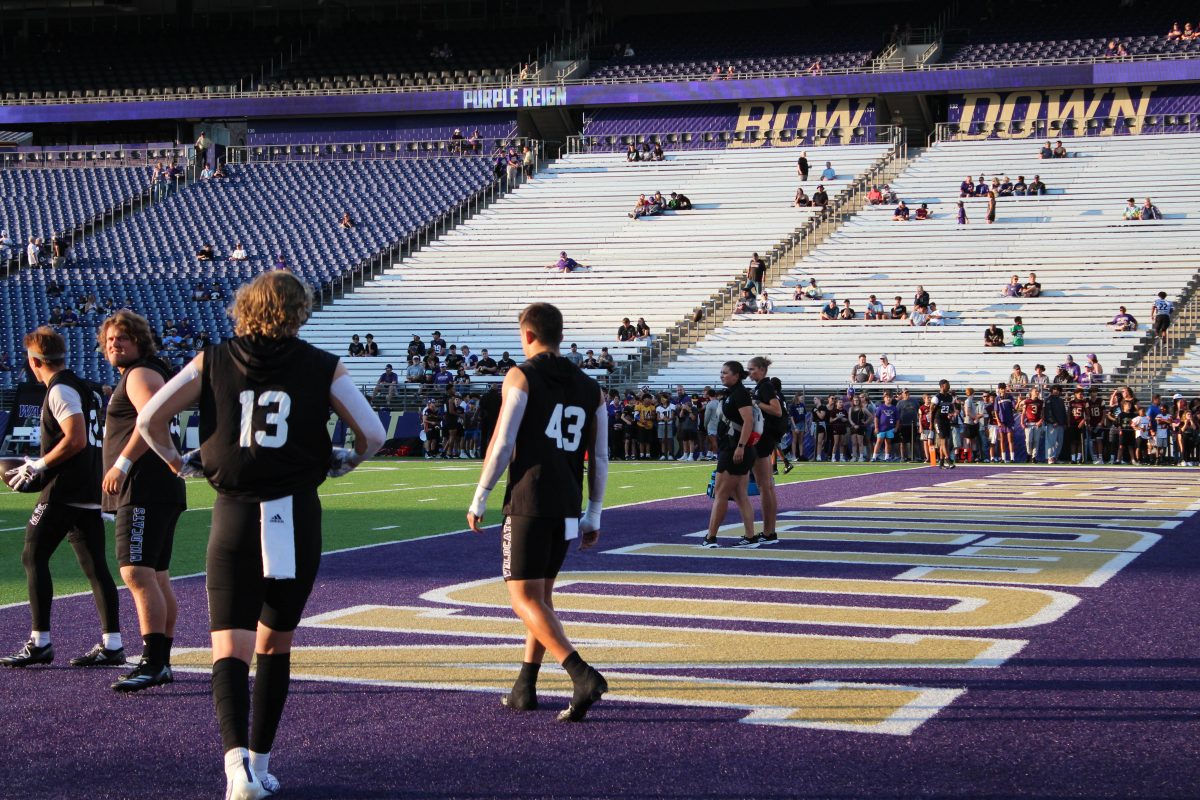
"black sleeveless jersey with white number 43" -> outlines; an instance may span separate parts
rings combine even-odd
[[[529,384],[529,399],[509,465],[504,513],[578,517],[583,512],[583,455],[595,428],[600,384],[550,353],[517,368]]]

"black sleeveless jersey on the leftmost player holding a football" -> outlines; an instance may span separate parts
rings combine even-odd
[[[38,503],[66,503],[76,505],[100,505],[101,431],[100,409],[103,399],[100,392],[70,369],[61,369],[46,384],[46,392],[58,385],[73,389],[79,395],[88,444],[65,462],[46,470],[46,485]],[[65,438],[59,421],[50,413],[47,399],[42,403],[42,456],[54,450]]]

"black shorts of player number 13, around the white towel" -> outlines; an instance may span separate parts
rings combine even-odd
[[[316,489],[292,499],[296,577],[263,577],[263,546],[257,503],[217,495],[209,536],[209,630],[253,631],[262,621],[272,631],[294,631],[320,566],[320,500]]]

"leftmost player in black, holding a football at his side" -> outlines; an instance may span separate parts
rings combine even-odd
[[[29,371],[46,384],[42,403],[40,458],[5,474],[14,492],[41,489],[25,527],[22,563],[29,582],[29,609],[34,628],[29,642],[14,655],[0,658],[5,667],[29,667],[54,661],[50,644],[50,557],[62,540],[71,542],[100,610],[101,643],[71,660],[73,667],[118,667],[125,663],[118,616],[116,583],[108,571],[104,523],[100,518],[100,395],[67,369],[66,343],[49,326],[25,336]]]

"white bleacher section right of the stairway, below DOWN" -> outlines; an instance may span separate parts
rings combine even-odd
[[[878,368],[887,354],[899,383],[958,387],[1006,380],[1014,363],[1033,374],[1043,363],[1052,377],[1070,354],[1088,353],[1117,371],[1153,320],[1159,290],[1177,300],[1200,259],[1200,138],[1141,136],[1072,139],[1073,157],[1040,161],[1040,142],[941,143],[913,161],[892,186],[913,210],[928,203],[934,218],[893,222],[893,206],[868,207],[784,277],[772,291],[773,315],[738,315],[653,375],[650,383],[715,385],[721,362],[754,355],[773,359],[785,387],[838,386],[848,381],[859,353]],[[1043,197],[997,200],[986,224],[986,199],[966,200],[968,224],[955,224],[959,184],[966,175],[1040,175]],[[1160,222],[1124,222],[1129,197],[1146,196],[1165,215]],[[1012,275],[1037,272],[1043,296],[1009,299]],[[822,321],[821,301],[793,301],[797,283],[816,277],[824,299],[850,299],[859,318]],[[896,295],[912,311],[924,285],[947,315],[943,327],[863,319],[875,294],[886,308]],[[1117,333],[1106,323],[1124,305],[1139,332]],[[1013,317],[1022,317],[1024,347],[1012,347]],[[984,348],[984,329],[996,323],[1004,348]]]

